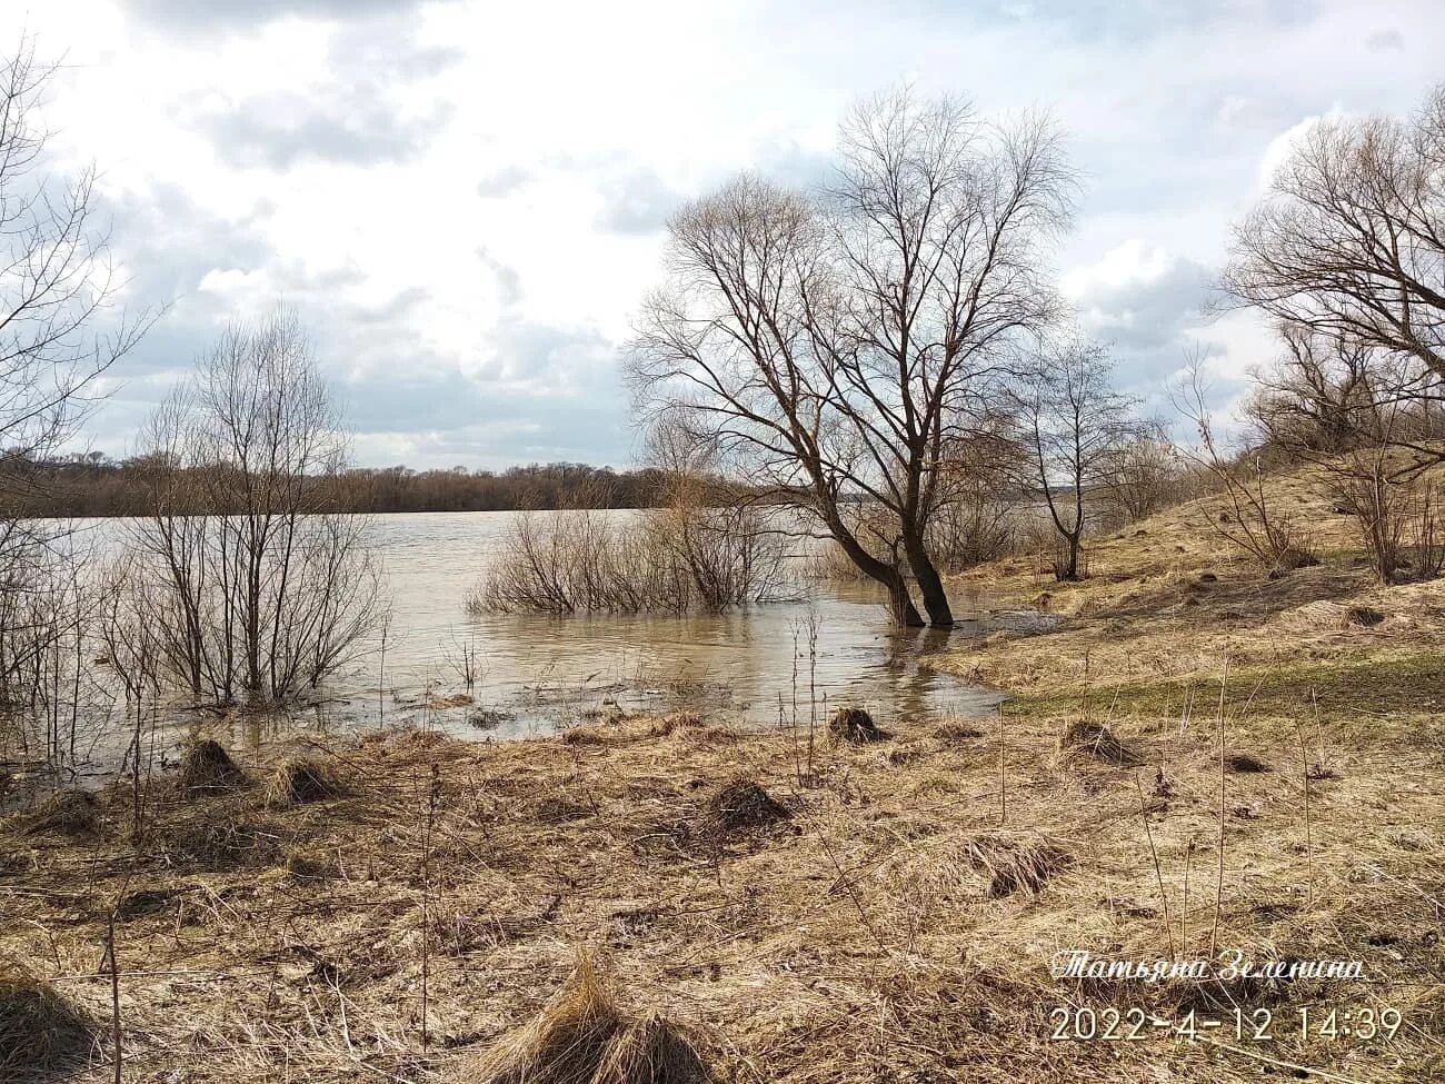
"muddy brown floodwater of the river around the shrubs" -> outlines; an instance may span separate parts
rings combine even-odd
[[[335,733],[383,723],[506,740],[555,733],[611,704],[696,710],[744,726],[806,726],[842,704],[864,707],[886,726],[993,714],[1001,694],[932,669],[929,653],[951,640],[1051,620],[959,594],[951,635],[899,633],[876,585],[816,580],[799,580],[788,598],[724,614],[471,614],[467,600],[513,516],[371,517],[370,542],[392,606],[384,655],[377,637],[328,681],[319,702],[285,717],[172,710],[162,749],[173,749],[198,720],[237,746],[256,746],[286,728]],[[98,551],[123,535],[118,520],[85,529]],[[92,746],[97,760],[107,759],[107,744]]]

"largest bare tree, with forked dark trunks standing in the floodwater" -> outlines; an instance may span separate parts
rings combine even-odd
[[[1071,189],[1042,119],[861,104],[829,189],[743,176],[673,218],[633,350],[644,410],[821,525],[900,623],[922,624],[910,574],[952,624],[926,529],[945,452],[1053,318],[1043,253]]]

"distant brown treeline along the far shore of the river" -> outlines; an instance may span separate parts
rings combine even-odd
[[[0,515],[144,516],[144,483],[153,464],[100,454],[64,460],[7,458],[0,471]],[[663,497],[663,473],[614,471],[582,463],[509,467],[504,471],[416,471],[407,467],[348,470],[327,483],[337,512],[494,512],[512,509],[652,507]]]

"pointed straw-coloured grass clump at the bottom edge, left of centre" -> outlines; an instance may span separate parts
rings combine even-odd
[[[470,1067],[474,1084],[702,1084],[712,1077],[662,1016],[629,1019],[597,961],[579,954],[565,986]]]

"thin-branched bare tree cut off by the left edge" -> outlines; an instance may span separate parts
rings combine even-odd
[[[75,759],[79,655],[94,607],[66,528],[26,519],[40,496],[27,468],[75,434],[98,379],[153,314],[116,311],[120,282],[95,224],[94,171],[48,168],[38,106],[53,71],[29,38],[0,58],[0,710],[12,723],[43,723],[45,757],[62,763]]]

